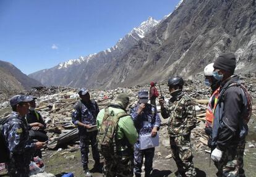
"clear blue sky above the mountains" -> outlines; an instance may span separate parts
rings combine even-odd
[[[29,74],[103,51],[179,0],[0,0],[0,60]]]

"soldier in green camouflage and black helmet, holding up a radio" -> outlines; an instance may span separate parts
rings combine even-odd
[[[169,117],[168,131],[170,136],[173,158],[177,165],[177,176],[196,176],[194,163],[192,162],[192,147],[190,133],[197,122],[195,106],[189,96],[182,91],[184,81],[181,77],[173,77],[168,80],[171,99],[168,105],[164,99],[160,99],[161,115]]]

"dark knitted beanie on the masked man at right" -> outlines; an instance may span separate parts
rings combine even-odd
[[[215,60],[213,67],[233,74],[236,68],[236,56],[233,53],[221,54]]]

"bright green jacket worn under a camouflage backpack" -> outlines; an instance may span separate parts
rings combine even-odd
[[[117,115],[117,113],[124,112],[124,110],[122,109],[109,107],[109,112],[111,112],[112,110],[115,115]],[[105,115],[105,109],[101,109],[100,112],[98,113],[97,120],[96,120],[98,129],[100,129],[101,127],[101,123],[104,115]],[[134,126],[134,121],[132,121],[132,118],[130,117],[130,115],[120,118],[118,121],[117,132],[116,132],[117,141],[127,139],[127,141],[129,142],[129,147],[133,147],[135,142],[137,141],[137,138],[138,138],[138,134]],[[126,149],[127,149],[126,146],[117,147],[117,150],[121,150],[121,151]]]

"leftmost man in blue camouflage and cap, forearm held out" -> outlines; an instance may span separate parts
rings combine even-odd
[[[13,96],[10,100],[13,111],[4,124],[4,137],[10,153],[6,166],[11,177],[28,177],[33,152],[45,145],[45,142],[32,142],[29,139],[30,126],[25,120],[25,115],[28,113],[30,101],[31,98],[25,95]]]

